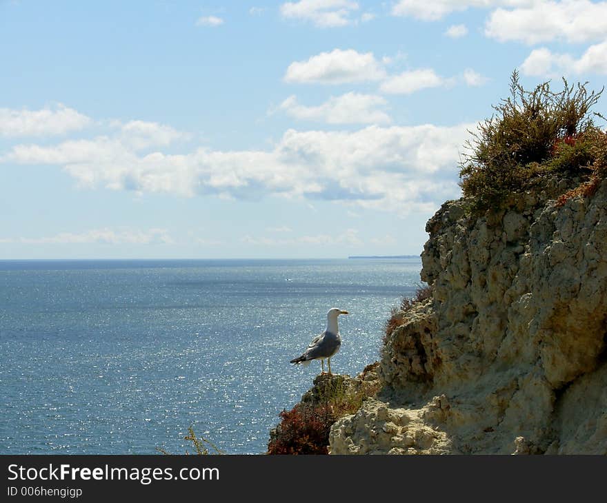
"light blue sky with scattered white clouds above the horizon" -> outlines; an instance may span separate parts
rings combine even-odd
[[[607,1],[0,0],[0,58],[0,258],[419,254],[513,69],[604,85]]]

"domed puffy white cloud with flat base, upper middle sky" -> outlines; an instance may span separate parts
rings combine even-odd
[[[386,70],[372,52],[335,49],[321,52],[308,61],[291,63],[284,80],[289,83],[341,84],[378,81],[385,76]]]

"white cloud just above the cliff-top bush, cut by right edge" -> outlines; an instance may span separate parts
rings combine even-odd
[[[571,54],[559,54],[548,48],[531,51],[521,65],[521,72],[534,76],[560,76],[563,74],[607,74],[607,41],[591,45],[575,59]]]

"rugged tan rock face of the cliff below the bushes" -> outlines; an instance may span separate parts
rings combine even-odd
[[[607,454],[607,181],[426,225],[432,298],[382,350],[383,391],[333,425],[346,453]]]

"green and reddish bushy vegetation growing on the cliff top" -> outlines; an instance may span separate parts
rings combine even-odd
[[[513,72],[510,97],[472,132],[461,161],[460,185],[472,209],[498,208],[508,194],[532,188],[550,174],[586,178],[578,192],[591,192],[606,178],[607,133],[593,121],[604,116],[592,111],[603,90],[588,92],[587,83],[563,82],[561,92],[553,92],[549,81],[528,91]]]

